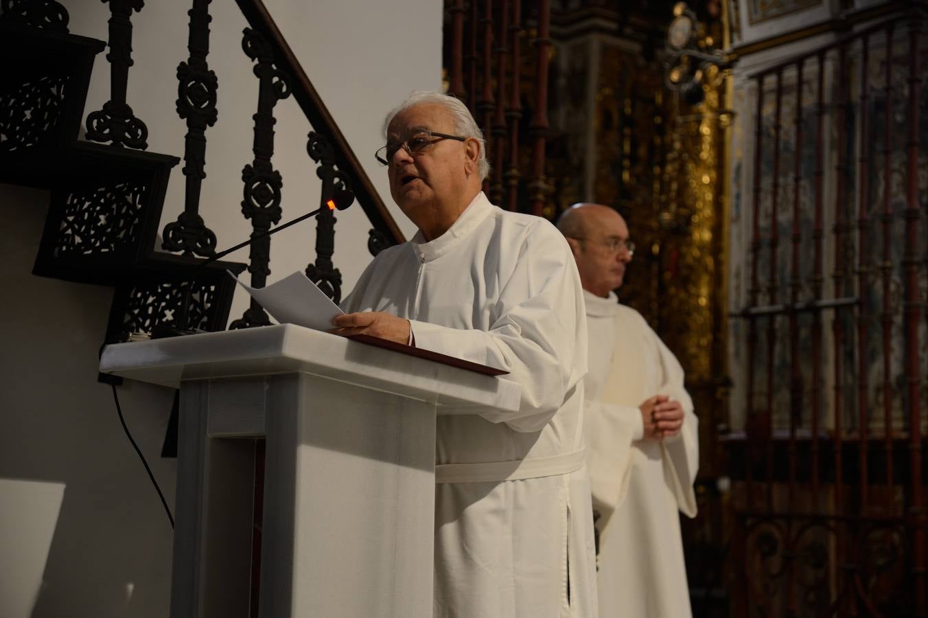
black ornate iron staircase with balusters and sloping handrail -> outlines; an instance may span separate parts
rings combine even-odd
[[[239,271],[242,266],[217,263],[211,268],[196,268],[215,253],[217,244],[200,214],[208,156],[206,134],[216,122],[219,92],[218,79],[208,63],[211,0],[191,0],[187,13],[189,54],[177,67],[176,109],[187,123],[185,203],[176,221],[164,226],[161,249],[180,255],[154,247],[164,187],[177,160],[142,152],[148,148],[148,127],[129,105],[132,19],[144,9],[145,2],[104,2],[110,8],[110,99],[87,116],[88,142],[77,141],[77,125],[72,121],[83,109],[93,56],[102,45],[68,33],[68,13],[58,2],[6,0],[0,6],[5,36],[32,37],[32,52],[26,53],[28,66],[48,73],[29,76],[20,75],[19,70],[15,75],[10,72],[0,89],[0,99],[9,108],[0,119],[2,179],[53,189],[36,273],[116,287],[110,341],[126,331],[150,330],[176,321],[180,315],[194,318],[191,324],[180,326],[224,328],[231,288],[223,270]],[[372,226],[367,243],[372,253],[401,242],[402,233],[264,4],[261,0],[237,0],[237,4],[249,22],[242,48],[258,80],[254,156],[242,171],[241,211],[251,221],[252,237],[271,229],[282,215],[283,179],[272,164],[274,107],[278,100],[293,97],[313,127],[307,136],[307,153],[322,181],[319,204],[335,200],[342,206],[356,199]],[[56,69],[56,58],[44,51],[53,47],[62,56],[68,55],[69,49],[80,48],[82,59],[69,74],[58,75],[61,71]],[[45,56],[49,61],[43,63],[40,60]],[[63,58],[58,62],[71,66]],[[40,118],[41,122],[36,122]],[[49,139],[43,132],[57,133]],[[318,216],[316,256],[306,273],[338,301],[342,277],[332,261],[335,223],[329,209]],[[248,264],[252,286],[260,288],[266,282],[270,250],[270,238],[260,238],[252,245]],[[153,304],[139,305],[146,302]],[[182,309],[184,302],[189,304]],[[225,308],[217,309],[218,305]],[[251,301],[251,307],[231,328],[268,323],[264,310]]]

